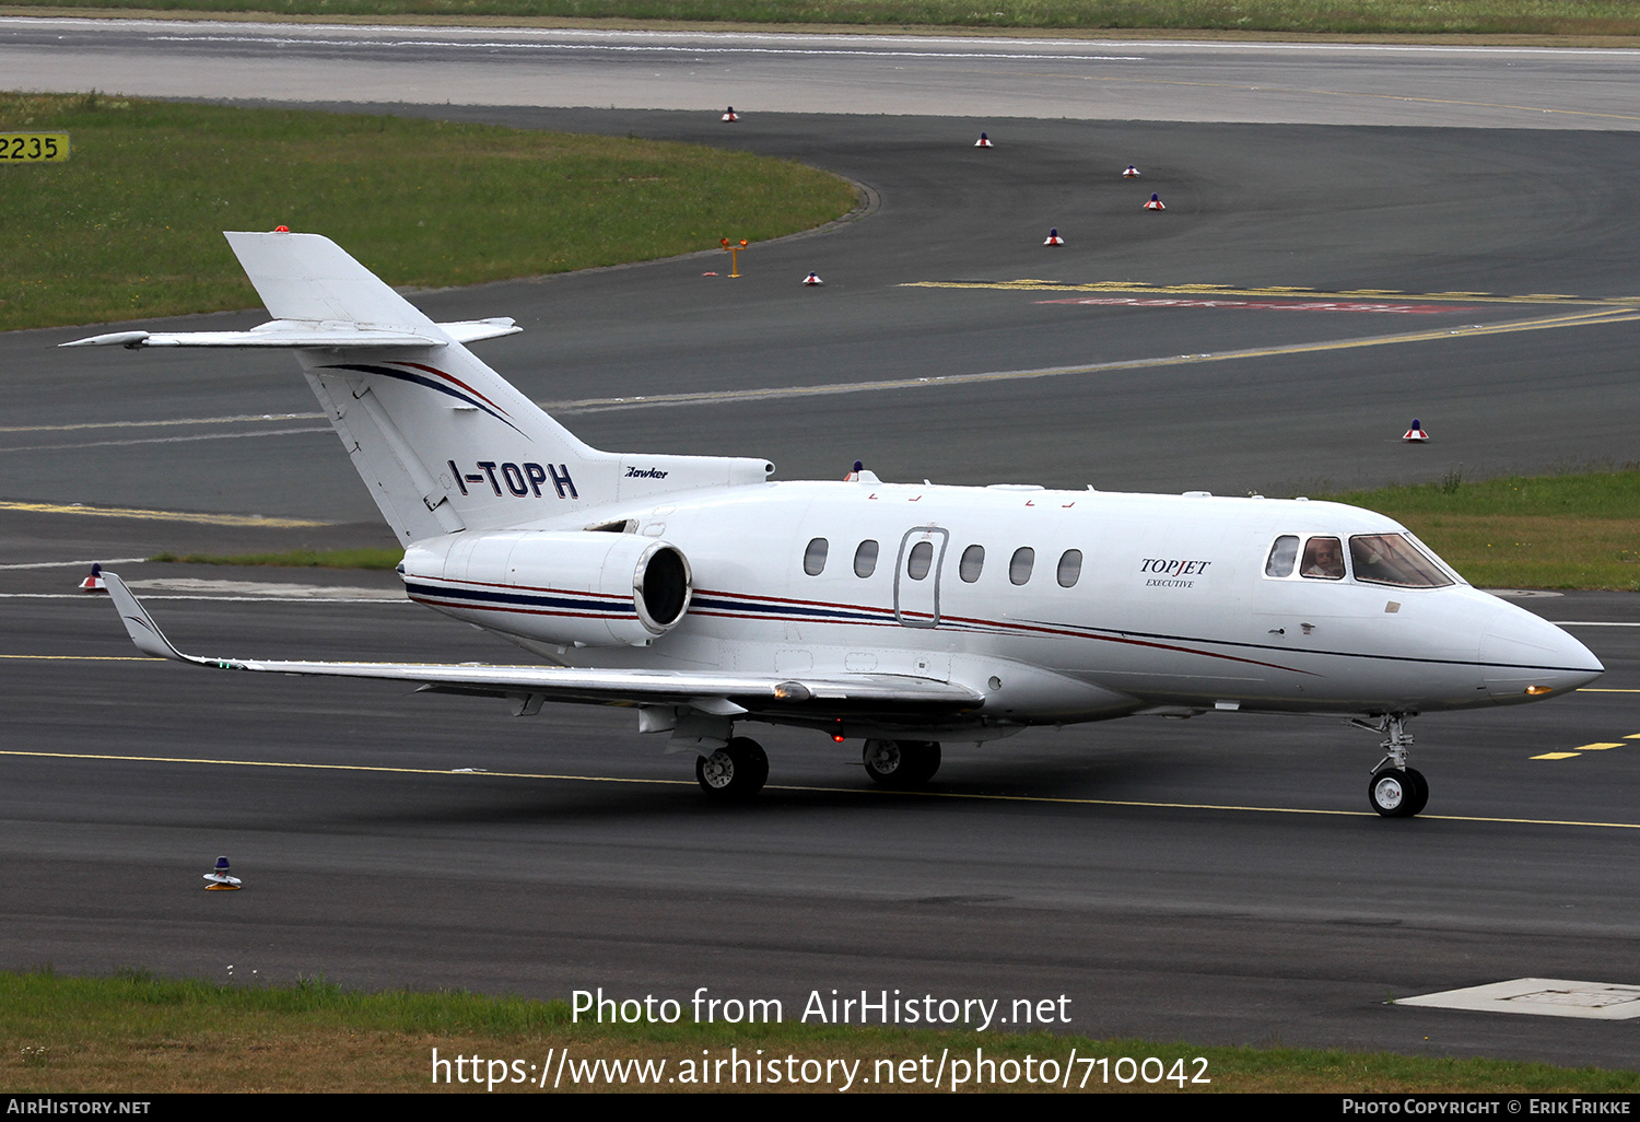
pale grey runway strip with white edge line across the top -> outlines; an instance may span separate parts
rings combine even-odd
[[[1086,120],[1640,128],[1640,52],[7,18],[13,89]]]

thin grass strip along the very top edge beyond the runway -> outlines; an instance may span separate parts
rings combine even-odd
[[[1640,34],[1632,0],[11,0],[52,10],[1310,34]]]

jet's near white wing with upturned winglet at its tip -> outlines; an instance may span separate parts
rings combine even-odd
[[[487,666],[438,663],[298,663],[184,654],[164,636],[125,582],[103,571],[108,597],[138,650],[156,658],[215,669],[379,677],[417,682],[423,691],[510,697],[520,712],[543,700],[602,705],[674,705],[718,717],[779,714],[786,718],[940,717],[973,712],[984,697],[954,682],[905,674],[777,677],[702,671],[584,669],[572,666]]]

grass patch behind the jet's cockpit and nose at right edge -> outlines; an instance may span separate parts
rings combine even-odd
[[[1327,495],[1389,515],[1483,589],[1640,592],[1640,471],[1509,476]]]

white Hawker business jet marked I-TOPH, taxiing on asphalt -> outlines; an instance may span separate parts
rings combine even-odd
[[[771,482],[774,464],[582,445],[333,241],[230,233],[274,315],[251,331],[120,331],[64,346],[272,346],[308,385],[405,546],[410,599],[549,664],[200,658],[125,584],[148,654],[418,682],[530,715],[638,710],[718,799],[758,792],[753,722],[863,740],[868,774],[927,782],[940,741],[1212,710],[1333,714],[1383,737],[1386,817],[1424,809],[1405,722],[1569,692],[1604,668],[1469,587],[1404,527],[1302,499],[1028,486]]]

